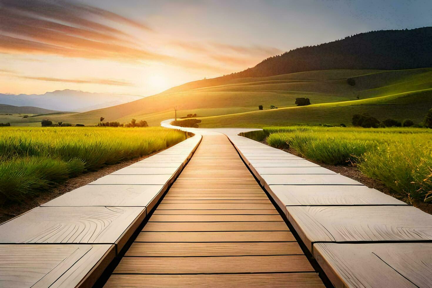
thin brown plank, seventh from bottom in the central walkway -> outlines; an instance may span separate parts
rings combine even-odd
[[[158,210],[153,215],[279,215],[273,210]]]

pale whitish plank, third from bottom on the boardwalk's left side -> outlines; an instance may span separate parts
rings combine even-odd
[[[163,185],[85,185],[41,206],[148,206]]]

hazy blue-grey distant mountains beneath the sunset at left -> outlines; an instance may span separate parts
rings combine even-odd
[[[0,104],[34,106],[54,111],[84,112],[115,106],[141,98],[141,96],[136,95],[90,93],[66,89],[46,92],[42,95],[13,95],[0,93]]]

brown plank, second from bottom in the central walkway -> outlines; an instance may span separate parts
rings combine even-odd
[[[188,274],[314,272],[304,255],[221,257],[124,257],[115,273]]]

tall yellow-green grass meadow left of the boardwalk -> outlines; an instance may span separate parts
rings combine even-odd
[[[185,137],[162,127],[1,127],[0,133],[3,202],[22,201],[68,177],[148,155]]]

